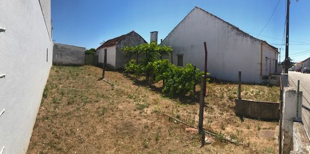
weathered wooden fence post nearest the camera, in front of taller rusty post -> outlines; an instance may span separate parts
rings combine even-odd
[[[204,107],[204,94],[203,94],[203,88],[204,87],[204,76],[201,77],[201,91],[200,91],[200,106],[199,106],[199,123],[198,123],[198,131],[199,134],[202,135],[202,146],[204,146],[204,131],[203,131],[203,107]]]

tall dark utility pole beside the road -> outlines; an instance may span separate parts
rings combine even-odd
[[[285,70],[284,73],[289,71],[289,23],[290,23],[290,0],[286,1],[286,39],[285,39]]]

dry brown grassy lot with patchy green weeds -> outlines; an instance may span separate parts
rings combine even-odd
[[[163,116],[171,115],[197,126],[199,98],[171,99],[160,94],[161,83],[151,86],[141,79],[106,72],[113,86],[93,66],[53,66],[33,129],[28,154],[272,154],[277,122],[239,118],[234,114],[236,84],[207,86],[204,128],[216,132],[212,144],[200,148],[200,137],[186,132],[186,125]],[[278,101],[279,87],[244,85],[245,99]],[[199,91],[199,87],[197,87]],[[222,141],[225,134],[242,145]]]

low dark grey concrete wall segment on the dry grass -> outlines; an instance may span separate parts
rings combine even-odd
[[[236,99],[235,113],[250,118],[279,120],[279,103]]]

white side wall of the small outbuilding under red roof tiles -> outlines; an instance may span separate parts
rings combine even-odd
[[[98,54],[98,63],[103,63],[105,58],[105,49],[107,49],[107,64],[109,67],[115,69],[116,62],[116,46],[109,46],[100,48],[97,51]]]

